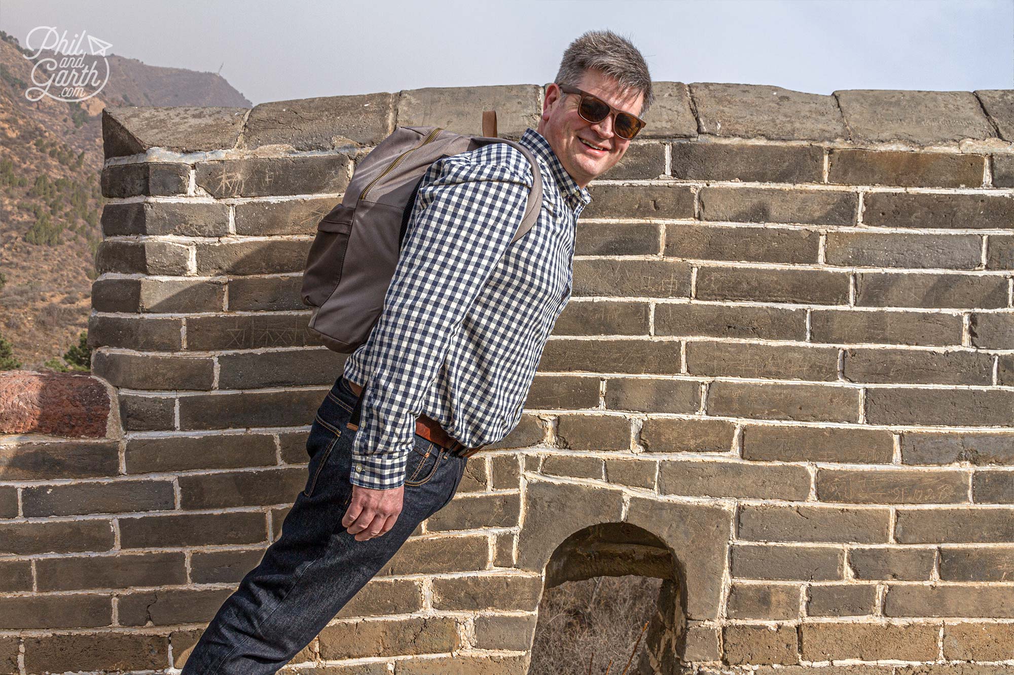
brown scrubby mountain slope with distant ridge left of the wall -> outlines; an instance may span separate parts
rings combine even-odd
[[[80,103],[25,89],[33,63],[0,30],[0,336],[24,368],[59,357],[85,329],[104,200],[101,111],[110,105],[250,107],[216,73],[110,55],[110,80]]]

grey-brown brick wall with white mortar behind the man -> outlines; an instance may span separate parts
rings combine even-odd
[[[570,578],[664,572],[661,672],[1014,665],[1014,91],[655,86],[521,424],[299,672],[523,673],[555,551],[601,533],[618,557]],[[316,220],[394,124],[495,107],[516,138],[541,96],[105,111],[115,424],[0,445],[0,673],[182,664],[342,370],[299,300]]]

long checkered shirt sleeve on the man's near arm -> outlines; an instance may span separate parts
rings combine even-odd
[[[369,376],[352,447],[353,484],[404,484],[426,392],[517,232],[531,186],[530,171],[476,162],[468,154],[427,169],[383,310],[367,340],[363,370]]]

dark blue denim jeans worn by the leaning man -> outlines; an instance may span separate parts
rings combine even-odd
[[[356,434],[346,423],[356,400],[339,377],[306,440],[306,488],[285,517],[281,536],[215,614],[184,675],[275,673],[380,571],[420,522],[454,497],[467,460],[417,434],[397,521],[382,536],[356,541],[342,525],[352,501]]]

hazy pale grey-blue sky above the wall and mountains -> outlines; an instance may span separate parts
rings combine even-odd
[[[0,29],[23,44],[38,25],[150,65],[221,67],[254,103],[545,84],[593,28],[631,39],[654,80],[1014,88],[1014,0],[0,0]]]

